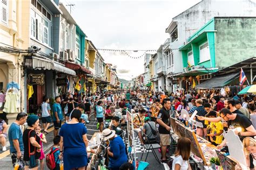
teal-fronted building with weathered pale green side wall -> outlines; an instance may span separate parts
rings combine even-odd
[[[214,17],[179,50],[185,72],[206,74],[252,58],[255,42],[256,17]]]

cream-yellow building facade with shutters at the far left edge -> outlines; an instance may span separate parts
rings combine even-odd
[[[22,16],[23,9],[22,0],[3,0],[0,2],[2,12],[0,12],[0,46],[23,48],[24,37],[22,32],[23,22],[26,17]],[[24,110],[24,79],[22,70],[22,53],[0,52],[0,90],[6,91],[7,84],[16,82],[21,87],[19,90],[20,105],[18,111]],[[1,114],[1,111],[0,111]],[[9,123],[15,121],[17,113],[8,113]]]

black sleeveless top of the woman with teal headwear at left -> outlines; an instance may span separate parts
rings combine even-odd
[[[30,132],[31,131],[31,132]],[[29,133],[30,132],[30,133]],[[35,130],[26,129],[23,133],[23,144],[24,144],[24,161],[29,161],[29,145],[30,145],[30,153],[36,152],[36,159],[40,158],[41,152],[37,152],[37,147],[33,146],[29,139],[31,137],[36,138],[37,143],[40,143],[40,137],[36,134]]]

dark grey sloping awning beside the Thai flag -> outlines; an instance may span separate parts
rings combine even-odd
[[[207,88],[221,88],[226,86],[228,83],[239,77],[239,73],[226,74],[222,76],[213,77],[210,80],[204,81],[196,86],[197,89],[207,89]]]

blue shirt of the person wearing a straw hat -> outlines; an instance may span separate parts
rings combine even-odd
[[[113,157],[109,157],[109,167],[111,169],[119,169],[121,165],[127,162],[124,141],[121,137],[117,136],[110,141],[109,146],[110,152],[113,153]]]

